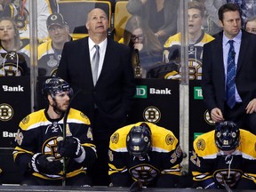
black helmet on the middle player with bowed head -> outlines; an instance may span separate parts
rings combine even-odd
[[[146,156],[151,145],[151,131],[148,124],[133,126],[126,137],[126,147],[132,156]]]

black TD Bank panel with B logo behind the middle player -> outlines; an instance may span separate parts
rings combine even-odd
[[[163,126],[179,136],[179,81],[169,79],[136,79],[132,123],[150,122]]]

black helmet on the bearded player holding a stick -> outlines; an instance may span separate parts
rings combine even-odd
[[[48,94],[50,94],[52,99],[54,100],[57,92],[69,92],[69,97],[72,97],[73,95],[73,90],[70,85],[65,80],[56,76],[48,78],[44,81],[42,92],[46,100]]]

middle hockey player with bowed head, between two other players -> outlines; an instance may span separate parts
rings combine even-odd
[[[145,122],[129,124],[110,138],[108,173],[114,187],[139,181],[146,187],[174,188],[182,158],[179,140],[170,130]]]

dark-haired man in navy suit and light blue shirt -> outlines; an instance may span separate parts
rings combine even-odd
[[[256,36],[241,30],[241,11],[236,4],[219,9],[223,31],[204,44],[202,89],[204,103],[214,122],[234,121],[239,127],[256,133]],[[228,106],[228,50],[233,40],[236,64],[235,106]]]

